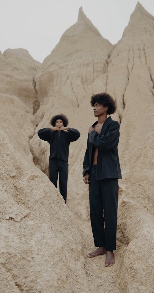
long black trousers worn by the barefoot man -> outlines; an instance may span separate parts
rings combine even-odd
[[[118,179],[96,180],[96,165],[92,165],[89,181],[90,217],[95,246],[115,250]]]

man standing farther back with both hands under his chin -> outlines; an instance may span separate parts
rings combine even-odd
[[[59,191],[66,203],[69,145],[79,138],[80,133],[67,127],[68,119],[63,114],[53,116],[50,123],[52,127],[40,129],[38,135],[50,144],[49,179],[57,188],[59,174]]]

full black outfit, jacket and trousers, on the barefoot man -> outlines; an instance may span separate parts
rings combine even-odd
[[[119,128],[119,123],[108,117],[100,134],[92,130],[88,134],[83,161],[83,176],[89,173],[90,216],[95,246],[103,246],[106,250],[116,249],[117,179],[121,178],[117,149]],[[93,165],[95,148],[98,149],[97,165]]]

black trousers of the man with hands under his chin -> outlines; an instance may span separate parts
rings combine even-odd
[[[59,191],[66,203],[67,198],[67,179],[68,179],[68,162],[52,158],[49,160],[49,179],[57,188],[59,173]]]

